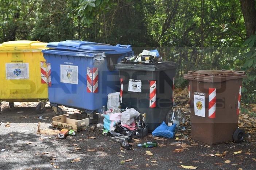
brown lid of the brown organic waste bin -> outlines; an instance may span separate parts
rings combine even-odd
[[[224,82],[230,79],[245,78],[244,71],[232,70],[198,70],[189,71],[183,75],[184,79],[202,81],[202,82]]]

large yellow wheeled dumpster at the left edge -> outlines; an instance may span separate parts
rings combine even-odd
[[[39,41],[7,41],[0,44],[1,102],[37,102],[37,113],[45,111],[48,101],[47,65]],[[1,107],[0,107],[1,111]]]

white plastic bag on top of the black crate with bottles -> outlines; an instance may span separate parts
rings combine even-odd
[[[121,125],[127,124],[130,125],[135,119],[139,116],[139,112],[134,108],[126,108],[124,112],[122,112],[121,116]]]

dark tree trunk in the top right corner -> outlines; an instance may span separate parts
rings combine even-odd
[[[240,0],[244,16],[246,37],[249,38],[256,31],[256,9],[255,0]]]

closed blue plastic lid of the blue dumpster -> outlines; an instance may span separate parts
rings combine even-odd
[[[131,45],[94,43],[89,41],[66,40],[48,43],[46,47],[57,50],[81,51],[81,52],[104,52],[105,54],[124,54],[132,51]]]

